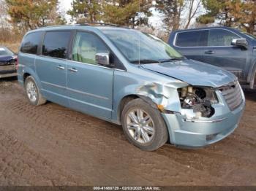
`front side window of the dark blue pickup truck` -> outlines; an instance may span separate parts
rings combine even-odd
[[[240,37],[230,31],[222,29],[211,29],[208,35],[208,47],[212,46],[230,46],[232,39]]]

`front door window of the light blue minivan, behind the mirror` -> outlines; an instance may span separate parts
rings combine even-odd
[[[73,61],[97,64],[95,55],[98,52],[110,52],[98,36],[86,32],[78,32],[72,51]]]

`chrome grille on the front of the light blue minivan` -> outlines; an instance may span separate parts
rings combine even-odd
[[[233,111],[242,104],[243,94],[238,82],[232,82],[219,88],[230,110]]]

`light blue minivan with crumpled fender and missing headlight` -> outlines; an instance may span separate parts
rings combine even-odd
[[[187,60],[156,36],[112,26],[29,31],[18,81],[30,104],[48,100],[122,125],[143,150],[168,139],[185,147],[215,143],[238,127],[245,105],[230,72]]]

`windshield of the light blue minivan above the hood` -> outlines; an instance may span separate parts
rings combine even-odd
[[[105,29],[103,33],[131,63],[157,63],[184,58],[169,44],[151,34],[127,29]]]

